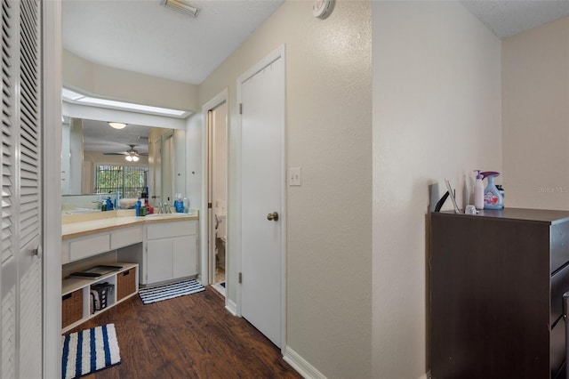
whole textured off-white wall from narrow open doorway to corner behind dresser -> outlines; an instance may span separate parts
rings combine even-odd
[[[501,139],[487,138],[501,131],[500,41],[453,2],[341,0],[327,20],[311,6],[285,2],[196,102],[228,87],[235,132],[236,77],[286,44],[288,165],[303,169],[287,194],[287,343],[331,378],[421,377],[427,186],[501,171]],[[188,119],[194,205],[202,126],[202,115]]]

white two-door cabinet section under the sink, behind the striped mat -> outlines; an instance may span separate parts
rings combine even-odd
[[[145,225],[143,285],[197,274],[197,221],[157,222]]]

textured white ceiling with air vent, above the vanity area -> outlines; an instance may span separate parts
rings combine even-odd
[[[283,0],[189,0],[197,18],[160,0],[63,0],[63,47],[94,63],[198,85]]]

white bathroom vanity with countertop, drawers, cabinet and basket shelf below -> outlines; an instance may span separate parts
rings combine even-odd
[[[98,313],[90,310],[93,285],[106,282],[114,287],[104,309],[107,310],[137,294],[139,285],[197,275],[197,213],[136,217],[132,211],[118,211],[79,216],[72,221],[64,219],[61,241],[64,331]],[[101,264],[120,269],[99,278],[70,278],[72,272]]]

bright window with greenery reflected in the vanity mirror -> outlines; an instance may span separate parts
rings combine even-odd
[[[148,166],[96,165],[95,193],[121,192],[121,198],[140,198],[147,187]]]

